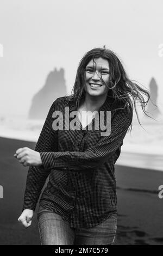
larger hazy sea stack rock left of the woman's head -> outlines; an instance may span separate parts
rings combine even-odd
[[[66,95],[64,72],[62,68],[59,71],[55,68],[54,71],[49,72],[45,85],[33,96],[29,119],[46,119],[52,103],[58,97]]]

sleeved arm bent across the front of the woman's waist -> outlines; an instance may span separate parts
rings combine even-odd
[[[91,170],[100,167],[115,153],[123,142],[127,130],[132,122],[133,112],[119,109],[111,122],[111,133],[103,136],[99,142],[84,152],[40,152],[45,169],[60,170]]]

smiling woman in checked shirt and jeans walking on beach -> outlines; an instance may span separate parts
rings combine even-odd
[[[79,63],[73,94],[59,97],[49,109],[35,150],[16,150],[18,161],[30,166],[18,218],[26,228],[49,176],[37,215],[42,245],[114,243],[114,164],[131,127],[136,100],[145,113],[148,100],[141,93],[149,100],[148,91],[129,80],[114,52],[93,48]],[[92,120],[85,121],[83,113]]]

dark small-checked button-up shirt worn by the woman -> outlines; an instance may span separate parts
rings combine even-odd
[[[107,98],[99,111],[111,111],[109,136],[101,136],[101,129],[89,130],[88,126],[82,130],[79,119],[80,130],[54,130],[53,112],[61,111],[65,124],[66,106],[69,112],[77,111],[74,102],[66,97],[59,97],[49,109],[35,147],[43,164],[29,167],[23,209],[35,210],[49,175],[40,205],[61,215],[73,228],[93,227],[117,211],[114,164],[120,156],[133,112]],[[115,110],[117,107],[121,109]],[[95,125],[95,119],[92,124]]]

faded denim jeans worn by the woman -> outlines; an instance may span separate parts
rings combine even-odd
[[[89,228],[71,228],[68,221],[39,206],[37,212],[41,245],[112,245],[117,229],[117,213]]]

